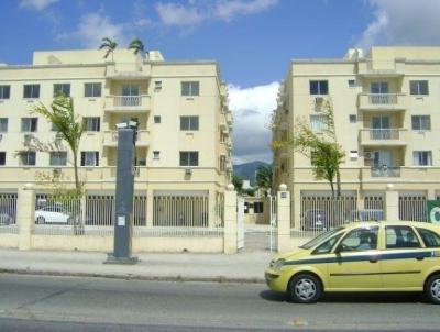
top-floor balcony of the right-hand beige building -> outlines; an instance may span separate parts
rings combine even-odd
[[[407,100],[406,93],[359,93],[358,106],[363,111],[404,111]]]

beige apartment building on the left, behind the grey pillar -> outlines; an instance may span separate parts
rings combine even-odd
[[[50,107],[57,92],[73,98],[84,121],[78,157],[88,197],[114,195],[116,124],[133,120],[139,123],[135,192],[146,201],[144,224],[153,224],[154,209],[156,219],[168,213],[163,219],[169,223],[196,213],[179,203],[188,197],[198,199],[204,225],[222,222],[232,171],[232,115],[216,62],[168,62],[156,51],[143,57],[120,49],[107,59],[101,51],[47,51],[35,52],[32,65],[1,64],[1,192],[25,184],[45,191],[51,186],[41,175],[54,171],[63,174],[66,186],[74,185],[72,152],[59,148],[63,142],[50,122],[30,113],[40,102]],[[29,151],[26,142],[34,137],[53,151]],[[165,211],[165,201],[184,210]]]

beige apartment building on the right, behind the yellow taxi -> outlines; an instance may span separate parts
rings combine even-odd
[[[298,119],[322,131],[326,102],[345,152],[341,184],[353,200],[350,209],[382,209],[393,188],[400,218],[422,219],[414,209],[405,212],[404,202],[440,196],[440,47],[372,47],[365,55],[350,49],[340,59],[293,59],[279,88],[274,141],[292,139]],[[288,145],[274,148],[274,188],[280,184],[292,193],[297,228],[311,211],[304,206],[307,198],[330,196],[310,161]]]

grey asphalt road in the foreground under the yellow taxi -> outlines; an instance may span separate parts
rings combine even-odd
[[[418,295],[338,295],[296,305],[264,285],[0,275],[0,331],[440,329]]]

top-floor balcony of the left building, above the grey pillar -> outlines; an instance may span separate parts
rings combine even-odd
[[[150,96],[108,96],[106,97],[108,112],[147,112],[151,109]]]

